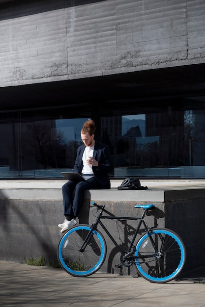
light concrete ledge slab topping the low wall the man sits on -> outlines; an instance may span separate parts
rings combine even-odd
[[[66,180],[0,181],[0,199],[62,200],[61,187]],[[205,195],[205,180],[141,180],[147,190],[117,190],[122,180],[111,180],[109,190],[90,190],[85,199],[100,201],[165,202]],[[193,191],[195,190],[195,192]],[[186,193],[184,192],[186,191]],[[192,195],[192,196],[191,196]]]

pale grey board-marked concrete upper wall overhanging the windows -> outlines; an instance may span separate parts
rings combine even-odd
[[[204,62],[203,0],[0,3],[0,87]]]

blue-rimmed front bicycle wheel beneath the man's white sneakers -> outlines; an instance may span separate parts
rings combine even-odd
[[[106,250],[105,239],[98,230],[91,231],[88,225],[79,225],[61,238],[58,260],[67,273],[86,277],[102,266]]]

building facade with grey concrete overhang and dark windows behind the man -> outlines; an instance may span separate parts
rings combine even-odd
[[[204,1],[1,0],[0,30],[0,178],[59,177],[88,118],[112,176],[205,177]]]

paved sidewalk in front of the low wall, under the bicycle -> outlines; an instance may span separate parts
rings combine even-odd
[[[205,307],[205,268],[168,283],[0,261],[0,307]]]

